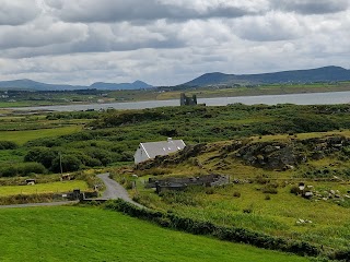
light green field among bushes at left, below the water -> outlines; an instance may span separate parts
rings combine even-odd
[[[13,141],[19,144],[24,144],[30,140],[71,134],[71,133],[81,131],[81,129],[82,129],[81,126],[73,126],[73,127],[55,128],[55,129],[0,131],[0,140]]]

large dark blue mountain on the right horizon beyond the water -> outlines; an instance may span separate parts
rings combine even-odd
[[[234,84],[278,84],[350,81],[350,70],[340,67],[324,67],[308,70],[283,71],[261,74],[207,73],[184,86],[234,85]]]

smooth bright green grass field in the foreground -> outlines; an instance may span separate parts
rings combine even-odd
[[[0,261],[308,261],[93,207],[0,210]]]

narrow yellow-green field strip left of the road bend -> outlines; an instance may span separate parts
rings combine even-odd
[[[14,194],[55,193],[67,192],[73,189],[86,190],[85,181],[73,180],[63,182],[37,183],[34,186],[1,186],[0,196]]]

